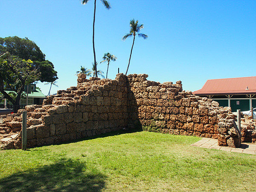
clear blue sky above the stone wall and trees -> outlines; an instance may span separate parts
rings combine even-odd
[[[132,38],[131,19],[144,24],[136,37],[128,74],[146,73],[148,80],[182,81],[183,90],[198,90],[207,79],[256,76],[256,0],[110,0],[110,10],[96,2],[96,60],[104,53],[117,57],[108,78],[118,67],[125,73]],[[158,3],[160,2],[160,3]],[[92,67],[94,1],[0,0],[0,37],[34,41],[54,64],[58,87],[76,86],[80,66]],[[98,69],[107,72],[107,64]],[[49,85],[39,83],[47,95]]]

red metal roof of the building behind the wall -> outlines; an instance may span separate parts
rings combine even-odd
[[[248,87],[248,89],[247,89]],[[256,76],[209,79],[195,95],[256,94]]]

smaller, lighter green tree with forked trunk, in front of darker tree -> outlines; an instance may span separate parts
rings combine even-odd
[[[39,80],[40,73],[32,64],[33,61],[21,60],[9,52],[0,55],[0,92],[14,105],[15,113],[17,113],[25,84],[32,84]],[[5,91],[6,87],[16,93],[15,97]]]

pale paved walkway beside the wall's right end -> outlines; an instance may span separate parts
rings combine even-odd
[[[191,146],[194,147],[202,147],[202,148],[212,148],[212,149],[218,149],[222,151],[231,151],[231,152],[237,152],[237,153],[247,153],[247,154],[256,154],[256,144],[252,143],[241,143],[240,148],[232,148],[232,147],[225,147],[225,146],[219,146],[218,140],[211,139],[211,138],[203,138],[202,140],[191,144]]]

